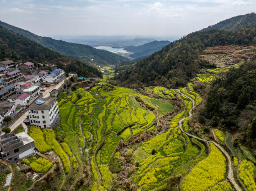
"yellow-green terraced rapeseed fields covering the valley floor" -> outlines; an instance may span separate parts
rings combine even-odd
[[[31,128],[39,150],[60,157],[67,176],[62,185],[73,188],[87,171],[87,187],[74,189],[228,190],[232,185],[240,190],[228,153],[218,143],[188,133],[192,108],[202,100],[192,83],[180,89],[147,87],[145,91],[154,93],[151,97],[102,85],[60,95],[61,122],[55,136],[52,130]],[[221,144],[234,149],[232,135],[230,139],[217,129],[215,134]],[[238,158],[232,159],[239,166]],[[247,185],[251,175],[241,174],[241,179]]]

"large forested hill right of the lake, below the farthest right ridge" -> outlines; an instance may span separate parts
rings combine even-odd
[[[221,45],[253,45],[256,23],[237,30],[205,30],[187,35],[170,43],[158,52],[138,62],[134,67],[123,70],[114,77],[115,82],[126,87],[138,85],[185,86],[202,68],[214,68],[200,57],[207,47]]]

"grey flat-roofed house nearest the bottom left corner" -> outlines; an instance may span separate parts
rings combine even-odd
[[[0,157],[14,163],[38,153],[33,138],[21,132],[0,136]]]

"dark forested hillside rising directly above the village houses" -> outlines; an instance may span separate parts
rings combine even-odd
[[[96,68],[69,56],[56,53],[18,33],[0,26],[0,60],[8,59],[19,62],[53,63],[60,68],[77,72],[83,76],[101,76],[101,73]]]

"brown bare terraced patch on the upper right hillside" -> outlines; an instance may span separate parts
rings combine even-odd
[[[254,55],[256,55],[256,48],[254,47],[230,45],[208,47],[200,57],[207,63],[215,63],[217,68],[223,68],[228,65],[242,63]]]

